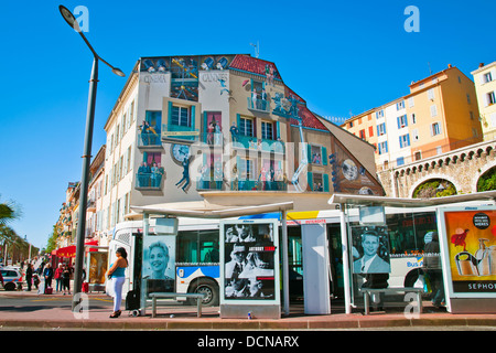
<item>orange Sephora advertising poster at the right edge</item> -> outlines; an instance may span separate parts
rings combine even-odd
[[[496,210],[443,211],[451,292],[465,297],[496,295]]]

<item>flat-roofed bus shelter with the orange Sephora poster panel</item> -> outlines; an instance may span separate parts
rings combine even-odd
[[[342,240],[342,257],[343,257],[343,281],[344,281],[344,299],[345,299],[345,311],[346,313],[351,313],[353,309],[353,290],[354,286],[352,284],[353,281],[353,275],[354,274],[363,274],[367,272],[367,270],[364,270],[364,268],[359,268],[359,265],[366,265],[365,263],[360,263],[358,260],[355,260],[355,254],[356,245],[354,244],[352,239],[352,227],[351,227],[351,221],[349,221],[349,214],[351,211],[358,210],[359,212],[359,227],[360,233],[384,233],[384,238],[387,238],[386,231],[388,225],[386,224],[386,214],[385,214],[385,207],[396,207],[396,208],[422,208],[422,207],[432,207],[438,217],[438,225],[436,225],[436,232],[440,235],[440,243],[441,243],[441,263],[442,263],[442,271],[444,274],[444,290],[446,295],[448,303],[448,310],[451,312],[456,312],[456,310],[453,310],[452,304],[457,303],[459,308],[466,309],[467,306],[466,302],[468,301],[462,301],[459,298],[475,298],[470,297],[466,293],[457,295],[453,291],[453,284],[450,282],[452,279],[452,276],[450,275],[450,267],[456,267],[457,265],[455,261],[451,260],[450,254],[446,250],[449,248],[448,243],[453,243],[453,238],[449,238],[450,235],[446,234],[448,226],[444,224],[444,218],[441,220],[440,215],[444,217],[444,210],[450,210],[452,206],[457,206],[460,210],[463,210],[466,212],[475,212],[473,225],[478,228],[488,228],[490,223],[490,216],[485,216],[481,214],[481,212],[477,212],[479,208],[487,208],[490,211],[494,208],[496,200],[496,191],[488,191],[488,192],[479,192],[479,193],[472,193],[472,194],[464,194],[464,195],[454,195],[454,196],[446,196],[446,197],[433,197],[433,199],[399,199],[399,197],[384,197],[384,196],[373,196],[373,195],[352,195],[352,194],[334,194],[330,200],[328,204],[334,205],[334,207],[337,207],[339,210],[339,223],[341,223],[341,240]],[[457,210],[459,210],[457,208]],[[452,210],[452,208],[451,208]],[[450,211],[451,211],[450,210]],[[414,212],[414,211],[409,211]],[[478,221],[478,220],[483,221]],[[496,224],[496,215],[494,220]],[[477,225],[477,223],[479,223]],[[481,225],[484,223],[483,225]],[[487,226],[486,226],[487,224]],[[456,229],[455,229],[456,231]],[[464,229],[462,229],[464,231]],[[495,227],[495,234],[496,234],[496,227]],[[496,237],[496,235],[495,235]],[[362,239],[364,236],[362,236]],[[379,237],[380,238],[380,237]],[[485,239],[481,238],[481,243],[485,242]],[[453,244],[452,244],[453,245]],[[380,246],[380,244],[379,244]],[[387,246],[386,246],[387,247]],[[481,248],[485,249],[484,245],[481,245]],[[494,247],[496,248],[496,246]],[[489,249],[488,249],[489,250]],[[388,253],[388,252],[385,252]],[[463,252],[462,252],[463,253]],[[466,253],[466,252],[465,252]],[[487,252],[489,253],[489,252]],[[358,255],[358,254],[357,254]],[[468,257],[468,256],[466,256]],[[475,256],[473,256],[475,258]],[[496,258],[496,256],[495,256]],[[370,270],[371,265],[368,264],[369,272],[389,272],[390,268],[387,268],[387,258],[382,258],[385,264],[377,265],[377,268],[381,266],[381,269],[377,270]],[[377,263],[377,261],[376,261]],[[475,267],[475,261],[465,261],[467,265],[466,267]],[[495,261],[496,263],[496,261]],[[454,264],[454,265],[453,265]],[[465,264],[463,264],[465,265]],[[488,265],[490,266],[490,265]],[[488,267],[486,266],[486,267]],[[496,266],[495,266],[496,268]],[[475,272],[475,270],[474,270]],[[496,270],[495,270],[496,274]],[[495,276],[496,277],[496,276]],[[477,288],[496,288],[496,281],[492,281],[490,284],[484,282],[484,284],[477,284]],[[494,290],[493,290],[494,292]],[[481,298],[487,298],[493,299],[494,293],[489,295],[487,291],[482,295]],[[456,301],[457,300],[457,301]],[[460,303],[461,302],[461,303]],[[473,301],[474,302],[474,301]],[[472,303],[473,303],[472,302]],[[466,310],[475,310],[474,306],[472,304],[471,309]]]

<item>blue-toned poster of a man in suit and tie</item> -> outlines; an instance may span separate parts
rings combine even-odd
[[[352,227],[353,272],[389,274],[391,271],[387,226]]]

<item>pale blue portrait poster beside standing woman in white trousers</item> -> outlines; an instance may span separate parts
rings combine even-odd
[[[147,297],[152,292],[174,292],[175,236],[144,237],[142,276]]]

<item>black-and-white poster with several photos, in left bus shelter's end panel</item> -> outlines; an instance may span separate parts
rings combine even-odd
[[[277,221],[231,221],[220,224],[220,300],[279,300]]]

